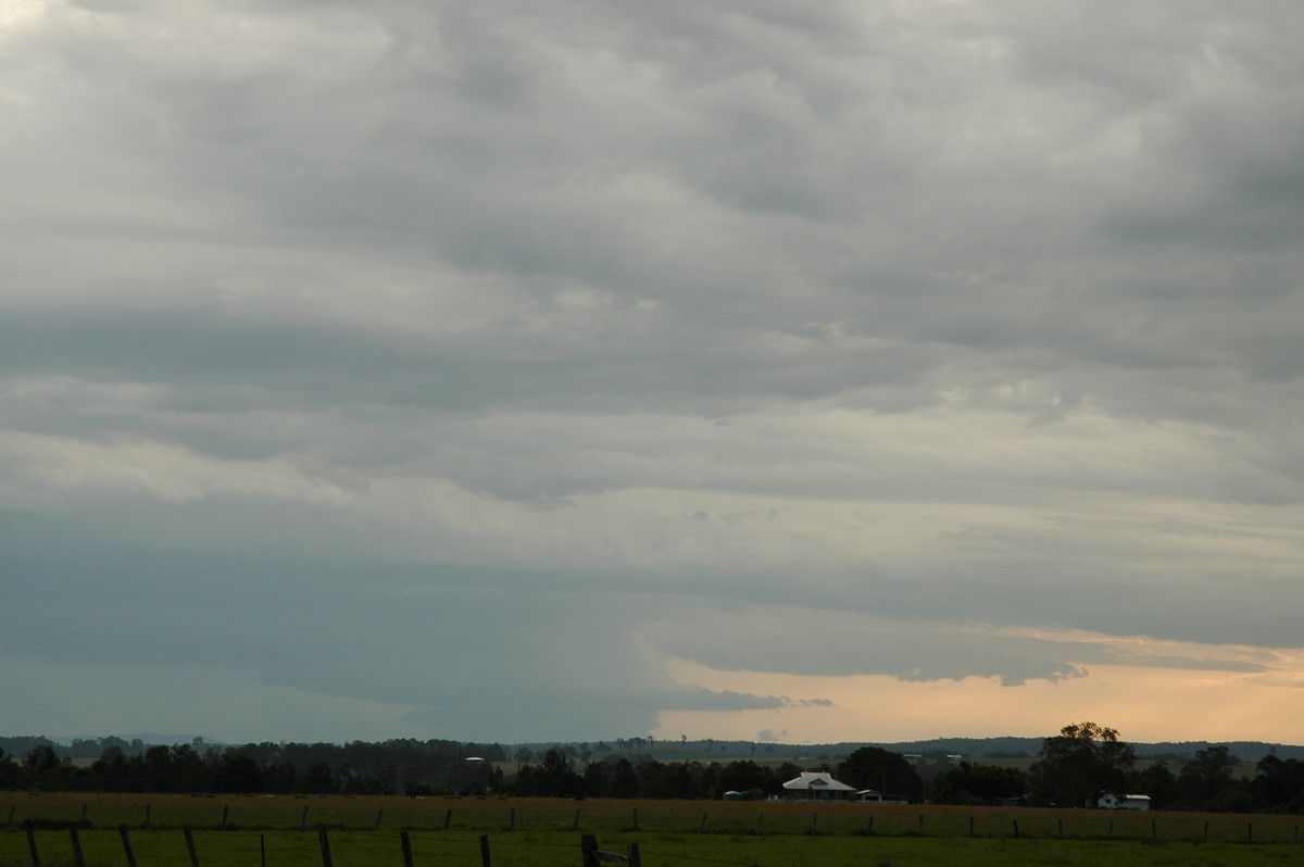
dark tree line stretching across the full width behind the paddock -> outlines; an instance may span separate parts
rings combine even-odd
[[[13,743],[9,739],[8,743]],[[659,761],[609,748],[558,744],[545,751],[497,743],[395,739],[379,743],[249,743],[239,747],[150,746],[104,739],[89,764],[40,741],[17,759],[0,739],[0,789],[44,791],[230,794],[518,794],[587,798],[746,798],[784,794],[803,767],[792,761]],[[80,744],[81,755],[91,742]],[[605,744],[601,744],[605,747]],[[642,744],[630,744],[642,746]],[[600,757],[593,757],[595,754]],[[94,754],[90,754],[94,755]],[[1226,746],[1172,761],[1138,761],[1118,731],[1093,722],[1064,726],[1042,742],[1028,771],[991,761],[925,759],[861,747],[818,765],[855,789],[911,802],[1086,807],[1102,793],[1149,795],[1158,810],[1304,812],[1304,761],[1264,756],[1256,774]],[[515,765],[512,768],[512,764]],[[1176,767],[1176,772],[1170,765]]]

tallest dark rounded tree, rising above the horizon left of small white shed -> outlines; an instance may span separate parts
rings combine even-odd
[[[1028,769],[1033,794],[1061,807],[1095,806],[1103,791],[1123,791],[1136,764],[1136,750],[1114,729],[1094,722],[1067,725],[1042,741]]]

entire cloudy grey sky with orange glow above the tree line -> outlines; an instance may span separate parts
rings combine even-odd
[[[1295,0],[0,0],[0,733],[1299,743]]]

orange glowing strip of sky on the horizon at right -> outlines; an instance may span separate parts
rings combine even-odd
[[[931,738],[1047,737],[1091,720],[1138,743],[1183,741],[1299,741],[1304,717],[1304,660],[1277,651],[1267,673],[1097,665],[1086,677],[1001,686],[995,678],[908,682],[888,675],[806,677],[719,671],[668,660],[681,683],[782,696],[785,707],[661,714],[657,737],[785,743]],[[828,700],[814,704],[812,700]]]

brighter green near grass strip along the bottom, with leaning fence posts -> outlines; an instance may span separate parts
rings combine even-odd
[[[81,830],[90,867],[125,867],[117,832]],[[468,830],[411,832],[415,867],[477,867],[480,833]],[[488,832],[497,867],[562,867],[580,863],[579,834],[574,832]],[[179,830],[132,832],[140,867],[179,867],[189,863]],[[201,867],[321,867],[316,832],[205,830],[194,832]],[[42,867],[72,867],[69,833],[37,832]],[[614,832],[599,834],[599,845],[625,853],[636,842],[647,867],[700,867],[738,864],[756,867],[908,867],[965,864],[968,867],[1161,867],[1171,864],[1252,867],[1299,863],[1294,844],[1247,845],[1232,842],[1029,840],[969,837],[855,837],[855,836],[734,836]],[[338,867],[403,867],[395,830],[330,832],[333,862]],[[265,859],[265,860],[263,860]],[[0,833],[0,866],[30,867],[26,836]]]

